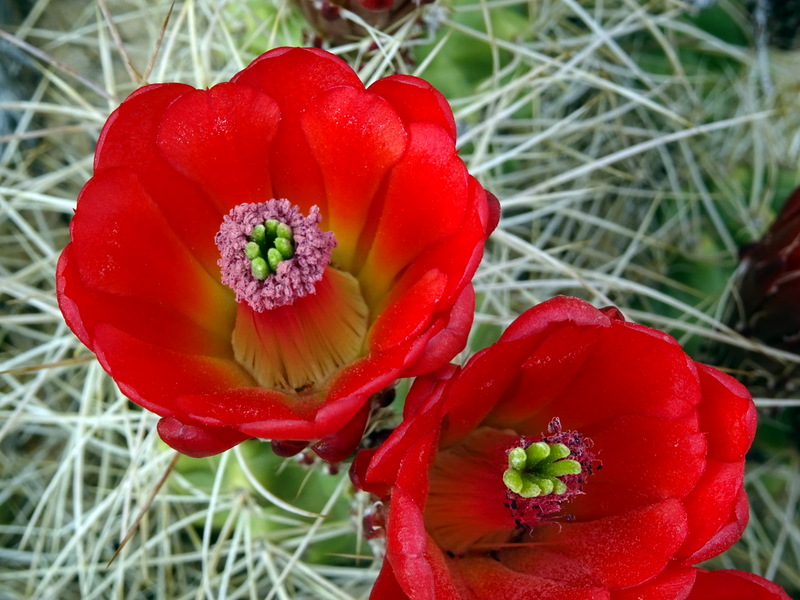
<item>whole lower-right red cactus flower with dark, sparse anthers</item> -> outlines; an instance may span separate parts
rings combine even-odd
[[[754,431],[744,387],[666,334],[545,302],[418,378],[404,422],[358,454],[354,482],[386,503],[372,597],[703,597],[691,565],[744,529]]]

